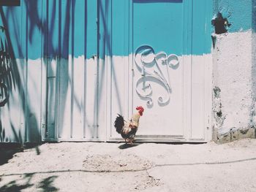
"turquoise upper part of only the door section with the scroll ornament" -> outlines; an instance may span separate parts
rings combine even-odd
[[[176,55],[211,53],[211,1],[113,0],[105,4],[111,7],[105,11],[108,22],[100,20],[100,26],[107,26],[108,55],[129,55],[141,45]],[[192,39],[184,39],[192,31]],[[193,48],[184,42],[191,42]]]

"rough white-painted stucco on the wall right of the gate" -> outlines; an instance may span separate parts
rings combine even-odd
[[[214,129],[217,134],[226,134],[231,130],[250,128],[256,123],[256,118],[252,117],[255,102],[252,94],[252,30],[214,37]]]

